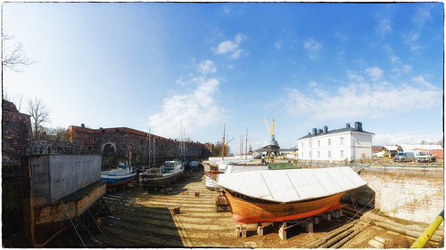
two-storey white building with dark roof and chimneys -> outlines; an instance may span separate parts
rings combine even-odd
[[[362,123],[355,122],[344,128],[328,131],[313,128],[312,133],[297,140],[299,160],[303,161],[349,161],[372,157],[372,137],[375,133],[362,130]]]

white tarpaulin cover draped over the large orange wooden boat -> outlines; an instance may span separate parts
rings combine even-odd
[[[322,198],[367,184],[350,167],[262,170],[219,174],[218,184],[237,193],[276,202]]]

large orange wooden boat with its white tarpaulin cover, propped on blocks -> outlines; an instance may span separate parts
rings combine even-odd
[[[283,222],[339,208],[348,190],[366,185],[350,167],[219,174],[237,224]]]

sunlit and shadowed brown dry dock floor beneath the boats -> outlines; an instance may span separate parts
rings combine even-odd
[[[112,215],[105,218],[102,233],[83,238],[88,247],[250,247],[291,248],[326,235],[351,222],[349,216],[331,221],[320,220],[314,232],[300,226],[287,230],[287,239],[279,238],[269,223],[264,223],[264,235],[257,235],[256,225],[247,225],[247,237],[235,237],[235,223],[230,212],[216,212],[214,191],[207,190],[202,173],[189,172],[168,193],[144,191],[139,184],[107,192],[106,203]],[[174,208],[179,213],[174,213]],[[353,227],[360,233],[342,248],[370,248],[369,241],[384,238],[384,248],[407,248],[417,239],[384,230],[366,222]],[[16,236],[20,238],[20,236]],[[15,239],[17,240],[17,239]],[[11,244],[14,239],[8,239]],[[5,243],[5,242],[4,242]],[[8,247],[8,245],[4,245]],[[46,247],[81,247],[74,230],[66,230]],[[430,242],[427,247],[439,247]],[[15,246],[12,247],[21,247]]]

